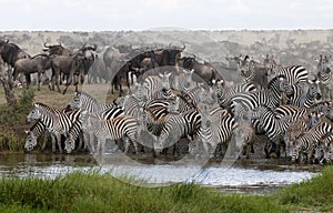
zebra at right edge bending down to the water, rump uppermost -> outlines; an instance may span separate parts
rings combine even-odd
[[[300,154],[306,155],[309,162],[311,162],[311,159],[313,159],[313,152],[319,145],[321,139],[330,132],[332,132],[332,125],[330,123],[322,120],[317,122],[296,140],[292,162],[296,162]]]

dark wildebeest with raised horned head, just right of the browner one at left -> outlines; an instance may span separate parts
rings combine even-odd
[[[72,81],[75,85],[75,91],[78,91],[79,79],[81,78],[81,83],[83,83],[84,75],[88,74],[90,67],[97,58],[95,49],[97,45],[83,45],[73,55],[56,55],[52,59],[52,79],[51,85],[49,85],[50,90],[54,90],[56,82],[57,89],[60,92],[59,77],[60,73],[64,73],[69,75],[69,79],[67,81],[65,89],[63,90],[63,94],[67,92],[67,89]]]

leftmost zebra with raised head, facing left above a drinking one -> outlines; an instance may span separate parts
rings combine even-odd
[[[38,102],[33,104],[33,109],[28,114],[27,121],[32,122],[33,120],[40,120],[44,124],[47,131],[56,135],[59,151],[62,152],[60,135],[67,134],[72,126],[72,123],[79,118],[80,112],[80,110],[75,110],[65,113]]]

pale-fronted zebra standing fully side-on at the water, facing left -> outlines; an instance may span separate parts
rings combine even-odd
[[[82,130],[93,133],[98,139],[97,150],[92,145],[93,153],[104,152],[105,140],[112,141],[122,139],[124,141],[124,153],[129,152],[131,142],[135,149],[135,153],[139,153],[138,145],[138,126],[139,123],[135,118],[130,115],[120,115],[109,120],[101,120],[100,118],[89,114],[89,112],[82,112]]]

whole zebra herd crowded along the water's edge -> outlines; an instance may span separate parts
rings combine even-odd
[[[36,123],[27,131],[24,149],[31,151],[47,133],[53,152],[56,142],[62,152],[63,135],[67,153],[84,149],[104,154],[111,146],[111,152],[137,156],[172,150],[173,154],[218,158],[234,139],[250,158],[259,143],[255,135],[264,134],[266,158],[330,162],[333,105],[323,93],[331,79],[329,58],[321,57],[312,79],[302,65],[270,67],[266,85],[252,81],[253,65],[241,61],[239,67],[243,81],[236,84],[198,83],[193,71],[176,70],[134,78],[133,92],[109,104],[83,91],[75,92],[62,110],[34,103],[27,119]]]

